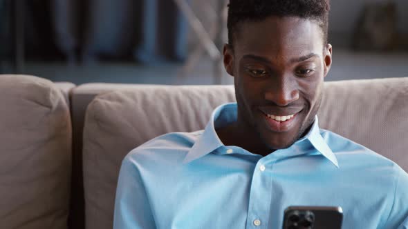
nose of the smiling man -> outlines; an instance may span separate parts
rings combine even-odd
[[[274,77],[275,78],[275,77]],[[276,77],[272,79],[265,91],[265,99],[277,106],[288,106],[299,99],[297,82],[290,77]]]

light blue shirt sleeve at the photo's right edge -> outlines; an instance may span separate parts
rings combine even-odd
[[[398,167],[395,195],[384,228],[408,229],[408,174]]]

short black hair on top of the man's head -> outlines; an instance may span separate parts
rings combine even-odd
[[[323,41],[328,42],[330,0],[230,0],[228,4],[228,43],[233,46],[239,23],[263,21],[267,17],[300,17],[313,19],[322,28]]]

